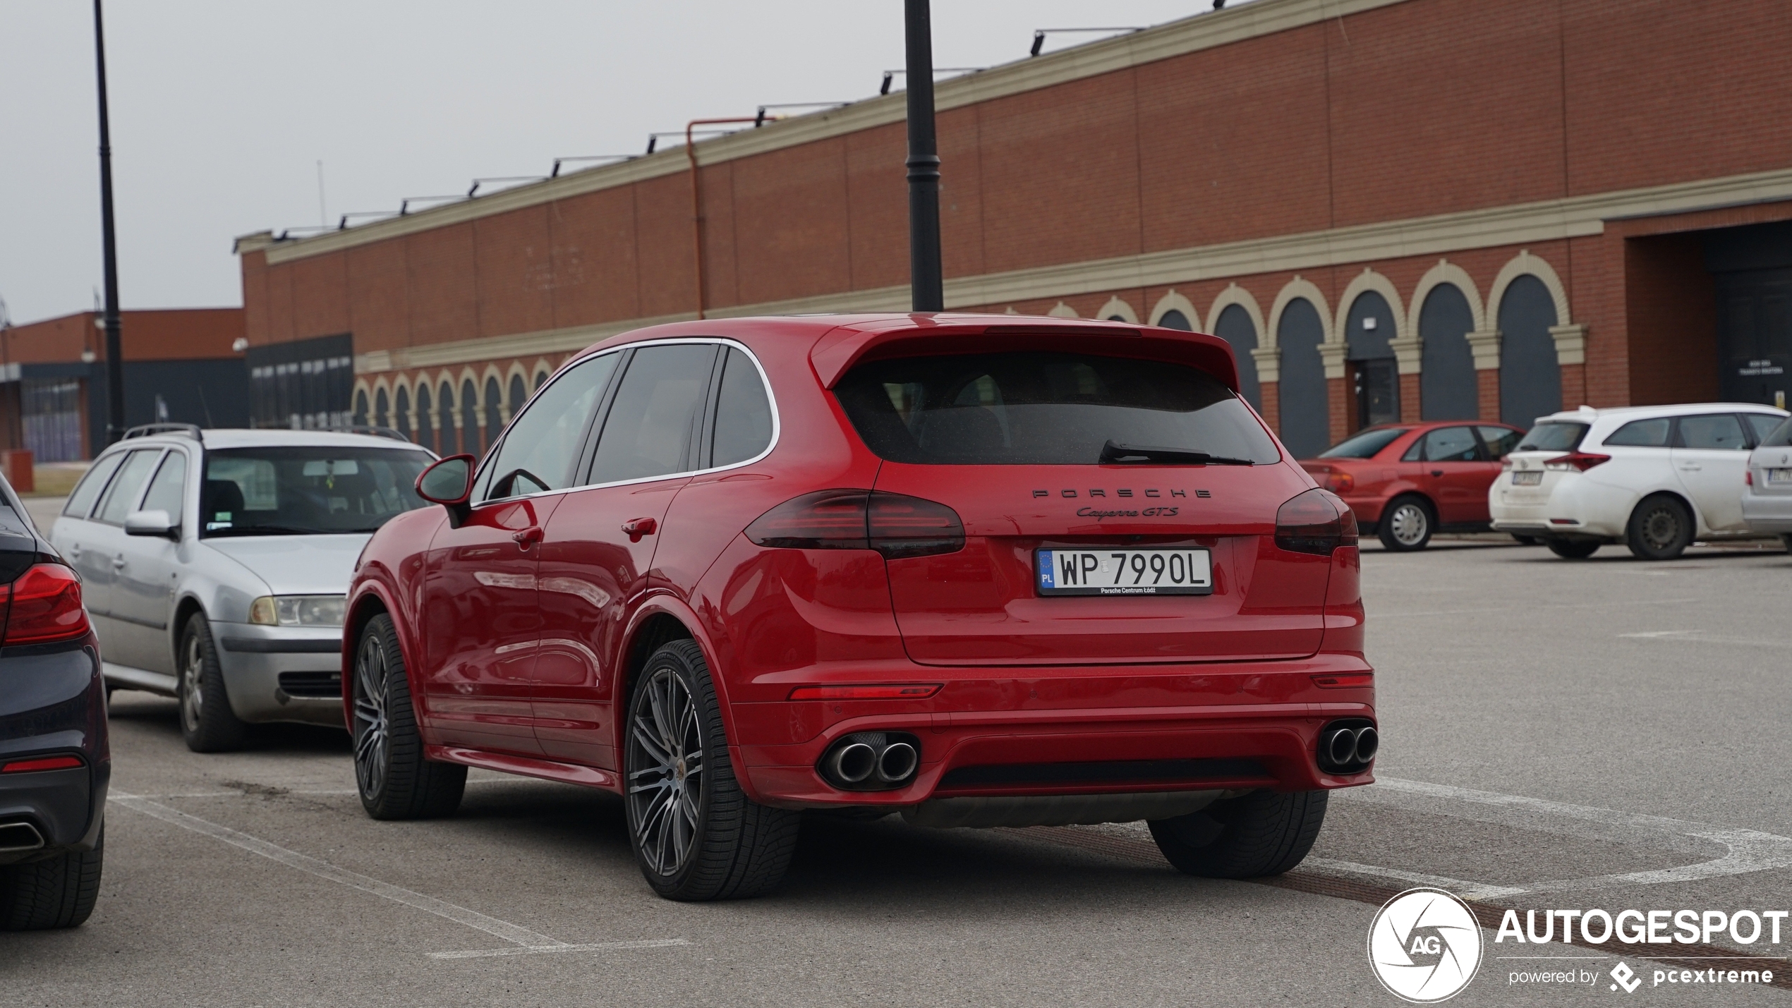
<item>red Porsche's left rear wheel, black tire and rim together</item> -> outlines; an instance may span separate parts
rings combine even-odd
[[[647,659],[629,693],[625,730],[629,843],[654,892],[677,901],[747,899],[783,879],[801,813],[756,804],[740,790],[695,641],[672,641]]]

